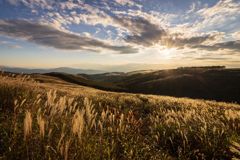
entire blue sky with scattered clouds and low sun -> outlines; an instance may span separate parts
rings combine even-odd
[[[0,65],[240,67],[239,0],[0,0]]]

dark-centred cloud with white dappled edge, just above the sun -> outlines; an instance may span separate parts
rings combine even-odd
[[[114,11],[113,11],[114,12]],[[99,12],[100,13],[100,12]],[[70,20],[73,23],[79,24],[83,23],[85,25],[97,25],[101,24],[103,27],[113,26],[116,27],[118,32],[117,38],[122,38],[123,33],[128,35],[122,38],[123,42],[141,45],[144,47],[150,47],[155,45],[161,40],[161,37],[166,34],[165,30],[160,27],[158,24],[154,24],[154,16],[148,14],[140,14],[141,17],[120,17],[120,16],[109,16],[107,14],[73,14],[72,19]],[[115,13],[115,12],[114,12]],[[118,13],[118,12],[117,12]],[[131,12],[132,14],[133,12]],[[136,13],[137,14],[137,13]],[[152,13],[155,14],[155,13]],[[157,15],[159,16],[159,15]],[[167,15],[166,15],[167,16]],[[145,17],[145,18],[143,18]],[[55,18],[55,20],[57,20]],[[65,17],[65,20],[66,17]],[[59,24],[61,22],[58,20]],[[55,22],[56,23],[56,22]],[[59,25],[58,25],[59,26]],[[125,34],[126,35],[126,34]]]

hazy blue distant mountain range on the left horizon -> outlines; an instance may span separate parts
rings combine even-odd
[[[59,67],[59,68],[53,68],[53,69],[28,69],[28,68],[12,68],[12,67],[6,67],[2,66],[2,69],[7,72],[14,72],[14,73],[26,73],[26,74],[32,74],[32,73],[50,73],[50,72],[64,72],[69,74],[101,74],[106,73],[105,71],[100,70],[92,70],[92,69],[74,69],[74,68],[68,68],[68,67]]]

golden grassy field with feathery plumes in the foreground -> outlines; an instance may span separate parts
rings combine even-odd
[[[1,159],[240,158],[240,105],[0,74]]]

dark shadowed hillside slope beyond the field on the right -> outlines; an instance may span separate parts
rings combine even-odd
[[[132,93],[240,103],[240,69],[189,68],[84,77],[112,82]]]

